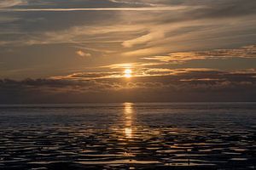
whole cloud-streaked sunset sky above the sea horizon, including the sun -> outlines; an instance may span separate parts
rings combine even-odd
[[[255,8],[1,0],[0,103],[256,101]]]

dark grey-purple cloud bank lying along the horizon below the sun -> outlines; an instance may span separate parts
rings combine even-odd
[[[102,73],[104,74],[104,73]],[[76,75],[84,77],[86,73]],[[91,77],[95,77],[91,75]],[[256,71],[183,69],[161,77],[0,80],[0,103],[256,101]],[[87,76],[86,76],[87,77]],[[64,96],[69,96],[68,98]]]

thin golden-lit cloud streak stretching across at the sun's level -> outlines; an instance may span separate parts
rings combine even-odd
[[[139,65],[139,64],[137,64]],[[230,76],[230,75],[243,75],[243,76],[255,76],[255,70],[243,70],[243,71],[219,71],[217,69],[208,69],[208,68],[182,68],[182,69],[168,69],[168,68],[147,68],[147,67],[137,67],[132,69],[132,67],[125,67],[125,65],[111,65],[111,69],[114,71],[81,71],[66,76],[56,76],[50,77],[54,80],[76,80],[76,81],[119,81],[125,79],[124,71],[125,68],[131,68],[132,70],[132,79],[131,80],[140,80],[151,79],[154,82],[155,77],[168,77],[168,78],[177,78],[182,77],[181,80],[207,80],[207,79],[224,79],[221,76]],[[119,67],[120,66],[120,67]],[[142,66],[142,65],[140,65]],[[211,75],[212,74],[212,75]],[[166,82],[166,80],[165,80]]]

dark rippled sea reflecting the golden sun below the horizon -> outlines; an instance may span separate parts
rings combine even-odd
[[[256,103],[0,105],[0,169],[256,169]]]

